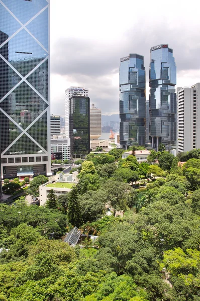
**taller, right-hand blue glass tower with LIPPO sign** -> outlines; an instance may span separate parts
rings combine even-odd
[[[176,65],[168,44],[151,48],[149,110],[152,147],[176,143]]]

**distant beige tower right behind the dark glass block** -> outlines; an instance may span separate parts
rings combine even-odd
[[[92,103],[90,108],[90,139],[98,139],[102,135],[102,109]]]

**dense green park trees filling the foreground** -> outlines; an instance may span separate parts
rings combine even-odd
[[[175,158],[160,145],[141,164],[132,150],[89,154],[45,207],[0,204],[0,300],[200,300],[200,150]],[[73,226],[84,248],[63,242]]]

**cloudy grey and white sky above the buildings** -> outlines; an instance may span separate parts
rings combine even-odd
[[[64,91],[89,89],[90,103],[105,115],[119,113],[120,58],[144,56],[146,99],[150,48],[169,44],[176,87],[200,82],[197,0],[51,0],[51,113],[64,116]]]

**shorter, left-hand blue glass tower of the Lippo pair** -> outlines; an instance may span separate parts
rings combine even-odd
[[[120,144],[145,145],[144,57],[130,54],[120,64]]]

